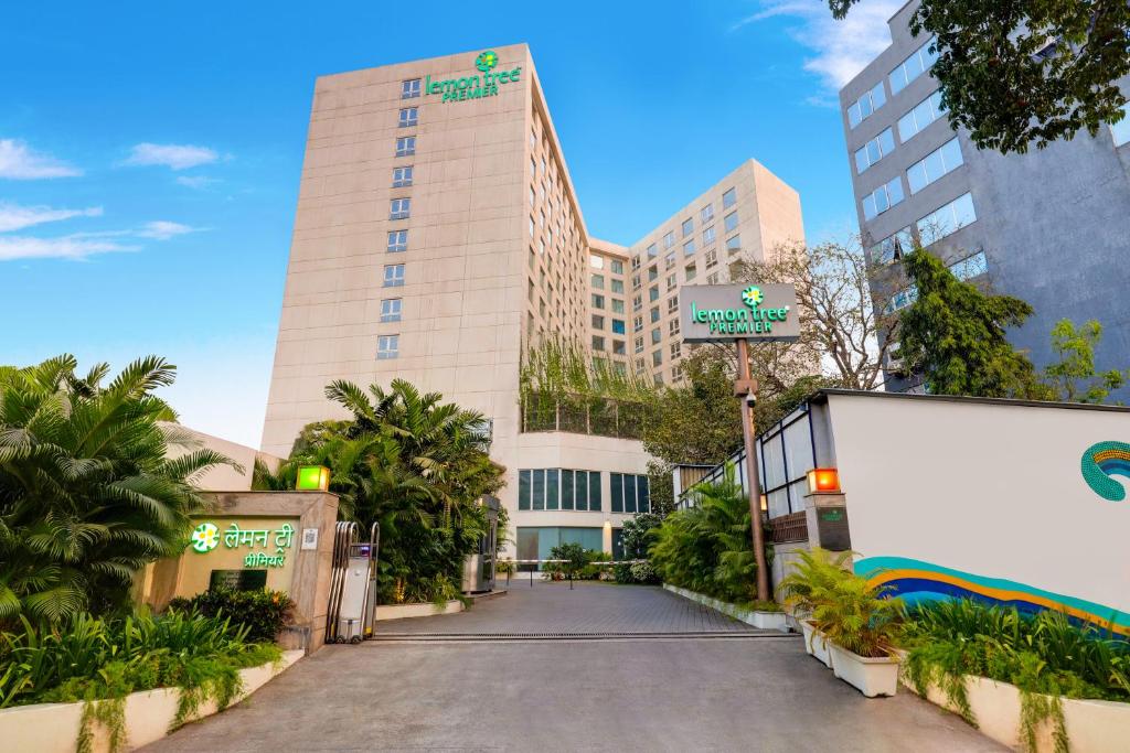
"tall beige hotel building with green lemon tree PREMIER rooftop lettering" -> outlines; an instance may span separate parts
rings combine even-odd
[[[601,422],[523,421],[523,350],[678,380],[679,287],[802,239],[796,191],[753,160],[637,243],[590,236],[525,45],[319,78],[262,448],[341,417],[333,379],[403,378],[490,419],[518,554],[612,551],[650,509],[647,456]]]

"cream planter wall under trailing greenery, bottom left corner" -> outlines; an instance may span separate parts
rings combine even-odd
[[[237,703],[255,692],[268,681],[302,658],[304,651],[284,651],[276,667],[263,664],[240,671],[243,693],[232,703]],[[125,697],[125,750],[133,750],[156,742],[168,734],[176,718],[176,707],[181,699],[179,688],[159,688]],[[0,741],[7,751],[35,751],[35,753],[73,753],[82,719],[82,703],[36,703],[0,710]],[[191,719],[202,719],[216,713],[214,701],[207,701],[197,709]],[[92,723],[94,753],[110,750],[107,730],[98,723]]]

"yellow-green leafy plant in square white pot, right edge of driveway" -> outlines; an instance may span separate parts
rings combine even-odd
[[[826,636],[832,671],[868,698],[894,695],[898,656],[892,648],[903,616],[902,602],[885,597],[886,587],[847,575],[836,580],[812,610]]]

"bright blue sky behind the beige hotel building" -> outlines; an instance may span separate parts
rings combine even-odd
[[[515,42],[593,235],[631,243],[749,157],[810,242],[854,229],[832,103],[899,2],[544,5],[8,8],[0,362],[163,354],[185,423],[258,446],[314,78]]]

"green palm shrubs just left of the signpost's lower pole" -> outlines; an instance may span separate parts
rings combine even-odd
[[[663,581],[733,604],[757,598],[749,500],[733,467],[698,491],[697,505],[677,510],[652,531],[651,563]]]

